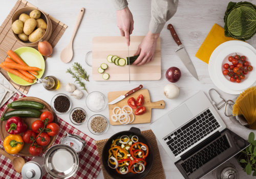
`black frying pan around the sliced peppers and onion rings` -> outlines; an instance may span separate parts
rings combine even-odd
[[[146,166],[143,173],[137,173],[134,174],[132,172],[129,172],[127,174],[119,174],[117,173],[116,169],[112,169],[108,166],[108,158],[109,158],[109,149],[111,148],[112,139],[117,139],[118,136],[130,136],[131,134],[134,134],[135,136],[138,136],[139,142],[142,142],[147,145],[148,147],[148,155],[145,159]],[[104,169],[110,176],[112,176],[115,179],[122,179],[122,178],[133,178],[133,179],[140,179],[147,175],[148,172],[150,172],[153,163],[154,163],[154,150],[151,146],[150,142],[140,133],[140,129],[136,127],[131,127],[130,130],[122,131],[116,133],[114,136],[112,136],[108,141],[106,141],[104,148],[102,150],[101,160]]]

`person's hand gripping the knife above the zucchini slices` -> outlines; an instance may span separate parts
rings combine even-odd
[[[130,46],[130,34],[133,33],[133,14],[128,7],[116,11],[117,27],[119,27],[121,36],[125,36],[127,46]],[[129,34],[130,32],[130,34]]]

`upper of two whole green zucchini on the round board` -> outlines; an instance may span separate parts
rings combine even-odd
[[[18,109],[18,108],[44,109],[45,105],[36,101],[13,101],[12,103],[7,104],[7,107],[11,109]]]

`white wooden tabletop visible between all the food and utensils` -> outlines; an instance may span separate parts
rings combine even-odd
[[[71,78],[70,74],[66,73],[66,69],[70,68],[72,63],[79,62],[82,64],[89,74],[92,74],[92,69],[84,63],[85,54],[92,50],[92,38],[94,36],[119,36],[119,29],[116,26],[116,14],[111,1],[89,1],[89,0],[30,0],[32,5],[38,7],[39,9],[47,12],[56,19],[60,20],[62,23],[68,25],[66,32],[63,34],[59,40],[57,46],[54,48],[54,52],[51,58],[46,60],[46,71],[44,77],[48,75],[53,75],[59,79],[60,87],[57,91],[48,92],[41,84],[34,84],[30,88],[27,96],[38,97],[50,104],[51,99],[54,95],[58,93],[65,93],[65,86],[68,82],[74,83],[74,79]],[[155,122],[161,116],[163,116],[168,111],[174,109],[177,105],[184,102],[190,96],[193,96],[200,90],[203,91],[208,96],[208,90],[210,88],[216,88],[217,91],[227,100],[233,99],[236,95],[226,94],[220,89],[218,89],[214,83],[212,83],[209,73],[208,64],[199,60],[195,57],[196,52],[207,36],[208,32],[212,26],[216,23],[224,27],[224,13],[226,7],[230,1],[229,0],[219,0],[219,1],[188,1],[180,0],[178,11],[175,16],[170,19],[164,26],[161,32],[161,57],[162,57],[162,78],[159,81],[132,81],[131,84],[127,81],[104,81],[97,82],[93,81],[90,77],[90,82],[87,82],[89,92],[99,91],[107,96],[108,92],[111,91],[123,91],[129,90],[134,87],[143,84],[144,88],[147,88],[151,95],[152,101],[164,100],[165,109],[153,109],[152,120]],[[253,1],[249,1],[253,3]],[[16,0],[1,1],[0,6],[0,23],[2,24],[4,19],[9,14],[12,7],[15,5]],[[255,2],[254,2],[255,4]],[[80,28],[76,34],[73,48],[74,57],[72,61],[68,64],[62,63],[59,59],[60,52],[63,48],[67,46],[70,41],[73,28],[75,26],[75,21],[78,12],[81,7],[86,9],[83,19],[81,21]],[[140,0],[140,1],[130,1],[129,8],[134,16],[134,31],[132,35],[145,35],[148,31],[148,24],[151,19],[151,1]],[[178,33],[188,55],[193,61],[195,68],[197,70],[200,81],[197,81],[185,68],[184,64],[181,62],[179,57],[176,55],[175,50],[177,49],[177,44],[170,35],[169,30],[167,30],[167,25],[172,23]],[[251,40],[247,41],[254,48],[256,48],[256,36]],[[89,57],[90,58],[90,57]],[[171,66],[177,66],[182,71],[181,79],[176,83],[180,87],[180,95],[177,99],[169,100],[163,95],[163,88],[169,82],[165,79],[165,72]],[[75,84],[75,83],[74,83]],[[76,84],[77,88],[80,87]],[[86,92],[83,92],[83,97],[80,100],[71,98],[72,108],[82,107],[84,108],[89,117],[94,115],[90,111],[85,103]],[[209,96],[208,96],[209,97]],[[238,133],[241,137],[248,139],[250,133],[249,130],[245,128],[238,127],[234,125],[229,118],[224,115],[224,108],[218,110],[219,115],[224,120],[227,127],[234,132]],[[101,115],[109,118],[108,107],[100,112]],[[69,114],[59,115],[59,117],[72,125],[69,119]],[[150,124],[137,124],[137,125],[123,125],[123,126],[110,126],[109,130],[102,136],[93,135],[87,127],[87,124],[81,126],[74,126],[86,135],[92,137],[95,140],[101,140],[110,138],[114,133],[130,129],[132,126],[138,127],[141,130],[150,129]],[[165,172],[166,178],[183,178],[174,163],[170,160],[167,153],[163,147],[158,143],[158,147],[161,153],[162,164]],[[238,166],[235,159],[231,159],[230,162],[237,166],[240,172],[240,178],[252,178],[248,177],[242,168]],[[103,178],[102,171],[100,171],[97,178]],[[211,173],[207,174],[203,178],[213,178]]]

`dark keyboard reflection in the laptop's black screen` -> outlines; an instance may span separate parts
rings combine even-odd
[[[212,142],[207,147],[203,148],[195,155],[190,156],[181,164],[181,167],[184,169],[187,175],[190,175],[204,164],[214,159],[217,155],[227,150],[229,147],[230,145],[227,141],[226,135],[224,135],[215,142]]]

